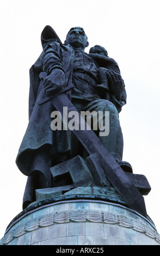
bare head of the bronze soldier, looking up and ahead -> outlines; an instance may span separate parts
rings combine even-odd
[[[73,48],[84,51],[85,47],[89,45],[87,35],[81,27],[71,28],[66,35],[65,42],[70,44]]]

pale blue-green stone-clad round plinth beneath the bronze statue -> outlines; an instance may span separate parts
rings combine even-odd
[[[150,218],[126,206],[71,198],[29,206],[0,245],[160,245],[160,236]]]

